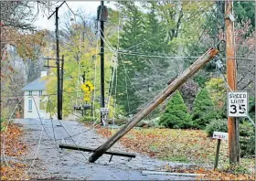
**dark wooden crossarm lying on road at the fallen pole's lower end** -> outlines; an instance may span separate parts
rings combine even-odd
[[[70,150],[79,150],[79,151],[83,151],[83,152],[92,152],[92,153],[95,152],[95,149],[93,149],[93,148],[84,147],[84,146],[76,146],[76,145],[71,145],[71,144],[59,144],[59,148],[70,149]],[[128,154],[128,153],[123,153],[123,152],[108,151],[103,154],[111,154],[111,155],[117,155],[117,156],[129,157],[129,158],[136,157],[136,154]],[[89,159],[89,161],[91,162],[90,159]],[[94,163],[94,161],[91,163]]]

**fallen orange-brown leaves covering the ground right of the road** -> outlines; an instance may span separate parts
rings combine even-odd
[[[117,130],[97,128],[97,133],[110,138]],[[167,172],[202,174],[197,179],[205,180],[254,180],[251,174],[234,174],[222,169],[213,170],[212,165],[216,152],[217,140],[209,138],[200,130],[173,129],[132,129],[120,140],[124,147],[141,154],[169,161],[197,163],[202,166],[169,167]],[[221,142],[219,165],[228,162],[228,142]],[[204,166],[207,165],[207,166]],[[220,166],[219,166],[220,167]]]

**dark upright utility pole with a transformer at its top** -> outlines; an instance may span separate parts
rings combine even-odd
[[[105,108],[105,96],[104,96],[104,22],[107,20],[107,8],[104,2],[101,1],[101,5],[98,7],[98,20],[101,23],[101,108]],[[104,112],[101,112],[101,124],[103,124]]]

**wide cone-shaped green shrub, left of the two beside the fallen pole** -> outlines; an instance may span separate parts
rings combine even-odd
[[[168,101],[159,124],[167,128],[191,128],[191,117],[179,91]]]

